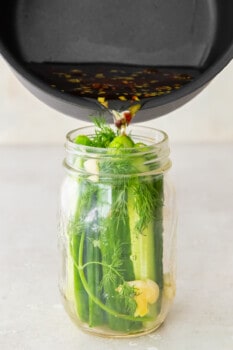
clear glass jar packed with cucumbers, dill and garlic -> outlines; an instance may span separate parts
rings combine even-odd
[[[78,145],[67,135],[61,190],[60,290],[83,330],[141,335],[158,328],[175,296],[176,211],[167,135],[130,126],[138,147]]]

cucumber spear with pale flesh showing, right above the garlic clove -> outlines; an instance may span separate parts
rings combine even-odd
[[[162,207],[163,177],[135,179],[128,196],[133,267],[137,280],[150,279],[159,286],[160,297],[150,307],[153,317],[161,310],[163,288]]]

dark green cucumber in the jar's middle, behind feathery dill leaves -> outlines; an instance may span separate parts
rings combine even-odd
[[[108,189],[106,188],[108,187]],[[134,279],[131,261],[131,243],[127,208],[124,211],[127,192],[121,183],[105,185],[99,196],[99,206],[109,202],[109,213],[102,216],[103,230],[100,235],[100,248],[103,262],[103,288],[105,304],[118,314],[129,315],[132,321],[106,313],[106,322],[112,330],[130,332],[141,328],[141,322],[134,321],[136,303],[131,295],[121,295],[126,281]]]

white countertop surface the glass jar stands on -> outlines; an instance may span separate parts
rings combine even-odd
[[[0,149],[0,349],[232,350],[233,144],[173,145],[177,297],[155,333],[82,333],[61,306],[56,210],[60,147]]]

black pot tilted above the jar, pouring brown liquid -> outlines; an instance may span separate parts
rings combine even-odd
[[[34,66],[101,62],[198,72],[179,90],[148,99],[137,115],[144,121],[182,106],[233,58],[232,0],[2,0],[1,8],[2,55],[33,94],[78,119],[100,105],[51,88]]]

